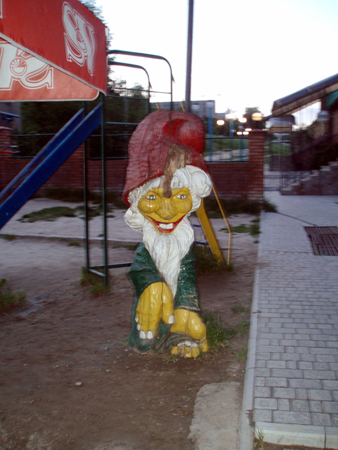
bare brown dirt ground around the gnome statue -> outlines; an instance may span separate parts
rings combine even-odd
[[[109,252],[120,262],[134,253]],[[59,239],[0,239],[0,278],[27,298],[0,316],[0,448],[193,450],[196,395],[208,384],[243,386],[248,327],[196,359],[137,354],[126,345],[133,303],[126,268],[110,271],[110,293],[94,297],[80,285],[83,253]],[[198,277],[203,313],[228,327],[249,320],[256,257],[255,238],[234,235],[234,271]]]

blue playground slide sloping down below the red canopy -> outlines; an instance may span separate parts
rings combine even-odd
[[[1,199],[20,183],[0,205],[0,229],[99,126],[101,104],[81,120],[82,112],[78,111],[0,193]]]

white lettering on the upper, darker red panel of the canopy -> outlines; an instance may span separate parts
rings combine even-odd
[[[87,62],[88,72],[93,75],[94,28],[67,2],[63,6],[62,20],[65,27],[67,60],[80,66]]]

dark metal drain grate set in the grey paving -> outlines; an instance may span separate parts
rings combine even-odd
[[[338,227],[304,227],[312,243],[313,253],[338,256]]]

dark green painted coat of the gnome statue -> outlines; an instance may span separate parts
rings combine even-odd
[[[135,291],[132,329],[129,336],[130,347],[140,352],[151,349],[166,351],[173,345],[181,342],[185,335],[181,333],[170,333],[171,325],[165,324],[162,320],[159,324],[157,336],[154,339],[140,339],[139,337],[139,332],[136,328],[137,323],[135,322],[138,300],[147,286],[158,281],[165,282],[143,243],[136,250],[134,261],[128,271],[128,275]],[[195,278],[195,257],[191,249],[181,260],[177,291],[174,298],[174,309],[177,308],[185,308],[196,312],[200,311]]]

